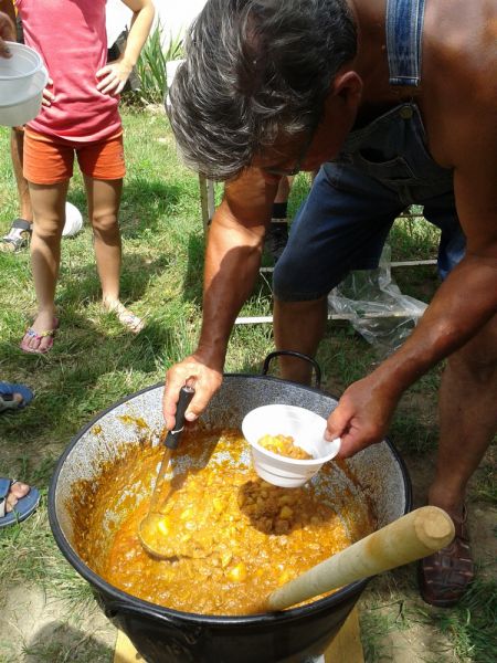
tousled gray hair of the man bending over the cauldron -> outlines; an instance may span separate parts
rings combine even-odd
[[[226,180],[317,125],[357,31],[346,0],[208,0],[184,45],[171,127],[193,170]]]

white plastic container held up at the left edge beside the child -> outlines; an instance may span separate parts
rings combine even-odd
[[[49,74],[36,51],[15,42],[7,44],[12,57],[0,57],[0,125],[12,127],[40,113]]]

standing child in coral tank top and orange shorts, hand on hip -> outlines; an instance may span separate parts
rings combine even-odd
[[[34,224],[31,265],[38,315],[21,348],[44,354],[59,320],[55,285],[67,188],[76,156],[83,173],[103,304],[139,332],[142,322],[119,301],[118,211],[125,175],[118,94],[136,64],[154,19],[151,0],[123,0],[134,12],[126,50],[106,64],[106,0],[17,0],[27,45],[49,71],[41,113],[25,127],[24,177]]]

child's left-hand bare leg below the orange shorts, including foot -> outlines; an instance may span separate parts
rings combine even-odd
[[[34,217],[31,269],[38,301],[38,315],[32,329],[36,334],[43,334],[54,328],[55,286],[61,262],[61,236],[68,180],[55,185],[30,182],[29,186]],[[43,349],[52,344],[50,337],[31,337],[24,340],[32,349]]]

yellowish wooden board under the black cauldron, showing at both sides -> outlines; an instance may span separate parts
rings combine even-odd
[[[117,632],[114,663],[140,663],[144,659],[123,631]],[[325,652],[325,663],[364,663],[359,632],[357,608],[352,610],[343,625]]]

